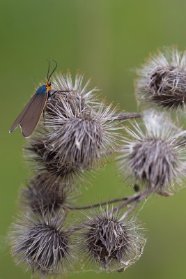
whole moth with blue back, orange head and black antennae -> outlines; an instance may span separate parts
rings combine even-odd
[[[57,63],[54,70],[56,70],[56,67]],[[54,70],[52,71],[52,73],[54,73]],[[15,119],[15,122],[10,128],[9,133],[12,133],[13,130],[15,130],[20,124],[22,135],[24,137],[31,136],[36,126],[38,125],[38,122],[40,121],[40,116],[45,108],[47,99],[51,97],[51,82],[49,82],[49,79],[52,76],[52,73],[49,75],[48,68],[47,82],[45,82],[45,84],[43,84],[36,90],[36,93],[33,95],[31,100],[29,100],[29,103],[24,107],[24,110],[22,110],[20,115],[17,116],[17,119]]]

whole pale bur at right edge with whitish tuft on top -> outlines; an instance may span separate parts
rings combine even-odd
[[[144,123],[132,123],[132,128],[125,128],[125,145],[118,157],[121,173],[162,194],[175,190],[175,184],[182,185],[186,131],[176,128],[168,115],[153,111],[145,112]]]

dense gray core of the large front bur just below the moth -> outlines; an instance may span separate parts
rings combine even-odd
[[[70,169],[89,169],[100,159],[104,128],[93,119],[67,119],[55,135],[47,135],[45,144],[53,145],[58,164]]]

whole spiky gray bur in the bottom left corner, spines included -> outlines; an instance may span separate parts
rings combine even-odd
[[[72,261],[72,239],[63,227],[64,216],[26,212],[12,225],[10,241],[17,264],[26,264],[42,275],[68,269]]]

